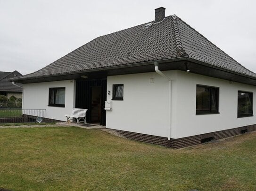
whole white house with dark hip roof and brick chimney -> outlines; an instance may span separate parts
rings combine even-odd
[[[158,145],[256,130],[256,74],[165,8],[14,81],[24,84],[24,109],[64,121],[87,108],[87,122]]]

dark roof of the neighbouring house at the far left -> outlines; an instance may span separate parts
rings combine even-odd
[[[0,72],[0,92],[22,92],[22,88],[13,85],[12,82],[9,81],[11,78],[19,76],[22,75],[16,70],[13,72]],[[22,84],[18,85],[22,86]]]

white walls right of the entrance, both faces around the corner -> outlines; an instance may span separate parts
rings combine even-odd
[[[255,86],[178,70],[164,73],[172,79],[171,138],[256,124],[255,116],[237,117],[238,90],[253,92],[255,96]],[[154,78],[154,83],[150,83],[150,78]],[[107,91],[112,92],[113,84],[124,84],[124,100],[112,101],[112,111],[107,111],[107,128],[168,137],[167,79],[155,72],[108,76]],[[220,114],[196,115],[197,84],[219,87]],[[111,99],[112,93],[107,95],[107,101]]]

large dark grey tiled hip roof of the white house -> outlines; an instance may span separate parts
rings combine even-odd
[[[256,74],[208,41],[176,15],[95,38],[50,65],[21,79],[40,78],[90,69],[190,57],[243,75]]]

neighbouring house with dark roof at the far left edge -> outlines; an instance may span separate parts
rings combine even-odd
[[[0,95],[5,95],[8,98],[15,96],[16,98],[22,98],[22,88],[13,85],[11,81],[12,78],[22,76],[17,70],[13,72],[0,72]],[[22,84],[18,84],[22,86]]]

